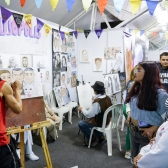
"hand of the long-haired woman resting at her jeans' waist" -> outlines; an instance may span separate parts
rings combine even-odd
[[[153,137],[155,137],[156,132],[158,130],[158,126],[152,126],[150,128],[141,128],[143,131],[142,135],[145,137],[148,137],[149,140],[151,140]]]

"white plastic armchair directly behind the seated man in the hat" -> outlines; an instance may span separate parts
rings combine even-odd
[[[106,138],[107,138],[108,156],[112,156],[112,129],[115,129],[116,133],[117,133],[118,148],[121,151],[121,142],[120,142],[120,135],[119,135],[119,131],[118,131],[118,125],[119,125],[119,120],[121,117],[122,109],[123,109],[122,104],[116,104],[116,105],[110,106],[105,111],[104,116],[103,116],[102,127],[93,127],[91,130],[88,148],[90,148],[93,131],[97,130],[97,131],[105,133]],[[108,113],[112,113],[112,115],[111,115],[112,117],[111,117],[110,123],[106,127]]]

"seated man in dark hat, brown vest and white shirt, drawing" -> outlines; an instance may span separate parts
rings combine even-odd
[[[84,145],[88,146],[91,129],[95,126],[102,127],[104,112],[112,105],[111,99],[109,96],[105,95],[104,83],[96,81],[92,86],[95,97],[92,104],[92,107],[89,110],[86,110],[82,107],[79,107],[78,110],[83,113],[87,118],[86,120],[79,121],[79,129],[83,132],[87,140],[84,140]],[[106,125],[109,124],[111,113],[107,116]],[[99,139],[99,143],[104,141],[104,135],[102,132],[94,131],[94,136],[92,137],[92,143],[96,140],[96,137]]]

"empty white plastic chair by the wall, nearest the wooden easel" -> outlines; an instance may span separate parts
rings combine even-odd
[[[61,121],[59,125],[59,130],[62,130],[63,115],[68,112],[71,113],[70,108],[69,107],[56,107],[56,99],[55,99],[55,96],[52,90],[49,91],[47,94],[47,102],[50,108],[54,111],[54,113],[57,113],[58,116],[60,117]],[[72,116],[72,114],[70,115]],[[70,120],[72,119],[72,117],[69,118],[70,115],[68,115],[68,121],[72,123],[72,120]]]

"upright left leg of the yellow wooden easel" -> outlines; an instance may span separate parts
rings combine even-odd
[[[24,132],[20,132],[20,161],[22,168],[25,168],[25,146],[24,146]]]

